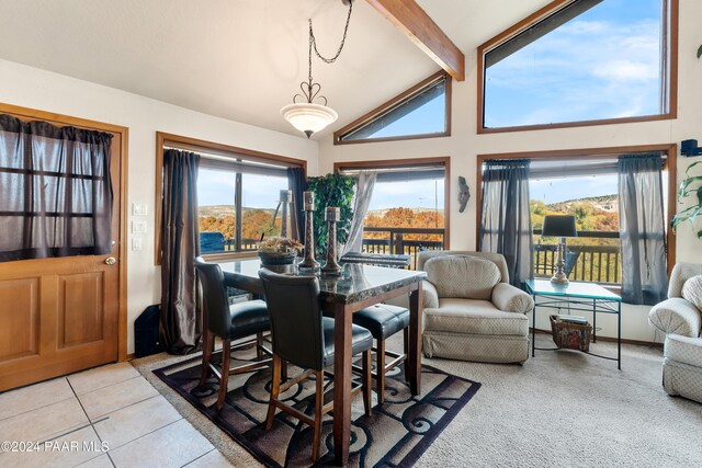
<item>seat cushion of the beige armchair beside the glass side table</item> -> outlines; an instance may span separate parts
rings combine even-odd
[[[503,312],[483,299],[439,299],[439,308],[424,309],[424,330],[480,335],[529,334],[529,318]]]

